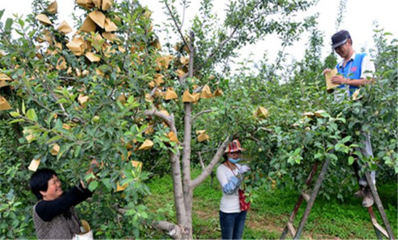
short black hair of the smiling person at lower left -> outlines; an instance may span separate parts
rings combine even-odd
[[[57,176],[56,171],[53,169],[43,168],[35,171],[32,177],[30,177],[30,190],[38,200],[43,199],[43,195],[41,195],[40,191],[47,191],[48,181],[53,176]]]

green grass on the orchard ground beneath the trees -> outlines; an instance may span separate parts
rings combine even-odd
[[[200,171],[193,169],[192,177]],[[170,176],[152,178],[149,183],[152,195],[145,200],[150,211],[159,211],[168,220],[175,219],[172,178]],[[397,182],[381,184],[378,187],[388,221],[397,236]],[[279,239],[283,227],[288,221],[299,193],[293,189],[274,189],[257,191],[258,197],[253,202],[246,219],[244,239]],[[218,209],[221,188],[217,178],[207,178],[194,191],[194,239],[220,239]],[[351,195],[344,196],[344,202],[331,196],[330,200],[317,197],[308,217],[302,239],[375,239],[376,235],[362,200]],[[166,209],[163,209],[165,208]],[[299,209],[294,226],[299,226],[300,217],[305,211],[305,203]],[[373,210],[377,221],[382,224],[377,208]],[[169,239],[162,232],[149,232],[148,237]],[[291,236],[288,234],[288,238]]]

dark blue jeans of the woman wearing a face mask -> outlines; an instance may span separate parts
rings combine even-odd
[[[242,239],[246,211],[240,213],[222,213],[220,226],[222,239]]]

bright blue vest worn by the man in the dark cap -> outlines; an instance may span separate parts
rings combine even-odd
[[[345,67],[342,66],[342,62],[338,63],[336,69],[338,73],[343,75],[345,78],[349,79],[360,79],[362,73],[362,60],[366,56],[366,53],[355,53],[355,58],[350,59]],[[338,86],[338,88],[344,88],[344,84]],[[359,88],[358,86],[351,86],[350,88],[350,96]]]

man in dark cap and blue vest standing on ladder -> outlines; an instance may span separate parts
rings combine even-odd
[[[342,58],[336,66],[338,75],[331,78],[332,84],[338,84],[337,91],[334,91],[335,101],[341,101],[344,97],[351,97],[360,86],[373,81],[373,73],[375,72],[375,64],[366,53],[355,53],[353,50],[353,40],[348,31],[341,30],[331,36],[331,47]],[[323,74],[329,73],[331,69],[325,69]],[[373,158],[371,145],[371,136],[367,132],[364,135],[364,147],[360,149],[366,158]],[[371,189],[368,187],[365,176],[360,176],[361,166],[358,161],[353,163],[355,176],[358,178],[360,190],[354,193],[355,197],[363,197],[362,206],[365,208],[372,206],[375,202]],[[371,172],[373,184],[376,183],[375,171]]]

